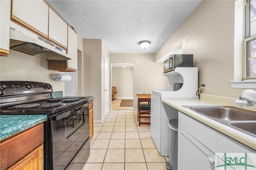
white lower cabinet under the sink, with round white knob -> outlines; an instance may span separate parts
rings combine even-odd
[[[178,116],[178,170],[215,170],[215,153],[256,152],[182,112]]]

